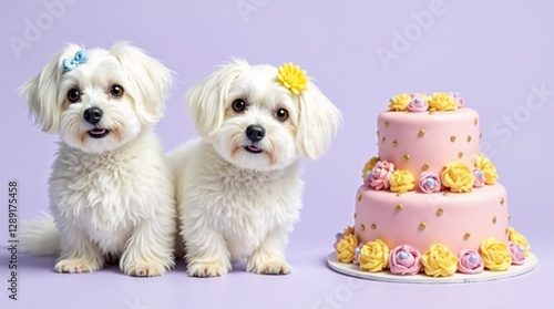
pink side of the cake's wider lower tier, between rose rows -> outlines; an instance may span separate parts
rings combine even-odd
[[[463,249],[479,250],[489,238],[506,243],[509,219],[506,189],[499,183],[471,193],[400,195],[362,185],[356,195],[359,241],[381,239],[391,249],[410,245],[424,253],[441,244],[458,256]]]

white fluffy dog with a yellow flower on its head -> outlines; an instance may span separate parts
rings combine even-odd
[[[201,140],[168,155],[191,276],[289,274],[285,247],[299,218],[300,157],[331,143],[340,112],[304,71],[235,60],[188,95]]]

